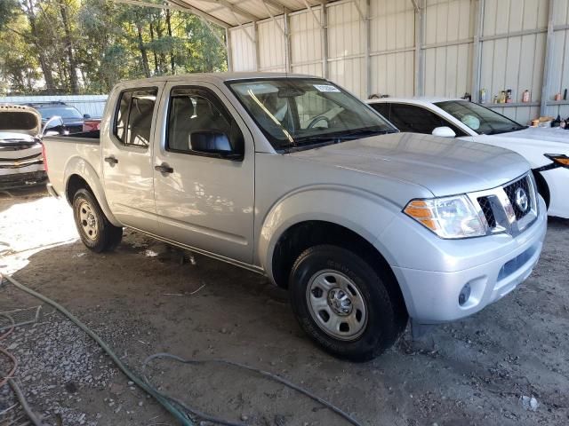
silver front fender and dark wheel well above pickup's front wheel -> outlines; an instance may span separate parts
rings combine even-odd
[[[306,248],[319,244],[349,248],[373,267],[388,271],[403,301],[389,266],[394,259],[378,240],[398,212],[392,202],[356,188],[322,186],[289,194],[268,212],[260,229],[260,264],[276,285],[286,288],[293,263]]]

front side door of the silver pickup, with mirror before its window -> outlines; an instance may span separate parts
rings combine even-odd
[[[161,116],[163,131],[156,138],[154,164],[160,234],[193,248],[252,263],[251,133],[214,85],[170,83],[164,88],[161,110],[167,114]],[[205,144],[212,144],[211,152],[192,146],[196,134],[217,135]],[[216,150],[220,154],[215,154]],[[232,151],[232,155],[221,154]]]

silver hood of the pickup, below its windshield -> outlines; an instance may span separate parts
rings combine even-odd
[[[435,196],[490,189],[529,170],[523,157],[506,149],[415,133],[362,138],[290,155],[421,185]]]

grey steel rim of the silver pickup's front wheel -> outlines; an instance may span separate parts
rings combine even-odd
[[[306,290],[309,312],[327,335],[336,339],[356,340],[367,325],[367,309],[356,283],[341,272],[315,273]]]

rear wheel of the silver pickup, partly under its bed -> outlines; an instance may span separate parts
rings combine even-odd
[[[88,226],[84,216],[89,214],[92,216],[88,218]],[[123,228],[108,221],[99,202],[87,189],[79,189],[73,196],[73,217],[81,241],[95,253],[115,249],[123,238]]]

